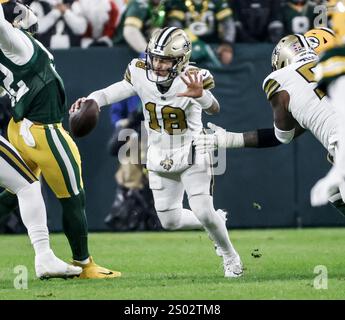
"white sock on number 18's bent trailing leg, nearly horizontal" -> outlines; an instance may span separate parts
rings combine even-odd
[[[164,229],[168,230],[200,230],[203,225],[188,209],[173,209],[157,212],[159,220]]]

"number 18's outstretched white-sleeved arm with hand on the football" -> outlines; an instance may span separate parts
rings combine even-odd
[[[87,98],[83,97],[77,99],[77,101],[72,104],[69,113],[71,114],[80,109],[81,103],[85,102],[87,99],[95,100],[98,104],[98,107],[101,108],[134,95],[136,95],[136,91],[134,90],[133,86],[126,80],[122,80],[105,89],[92,92]]]

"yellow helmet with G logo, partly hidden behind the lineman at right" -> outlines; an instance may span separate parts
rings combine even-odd
[[[311,29],[304,36],[317,54],[335,46],[335,33],[329,28]]]

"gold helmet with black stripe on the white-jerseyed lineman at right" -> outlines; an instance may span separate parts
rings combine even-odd
[[[318,59],[307,39],[300,34],[282,38],[272,53],[272,69],[279,70],[292,63]]]

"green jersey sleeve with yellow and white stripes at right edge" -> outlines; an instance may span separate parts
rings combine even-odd
[[[316,68],[319,88],[327,92],[328,86],[345,75],[345,46],[332,48],[320,58]]]

